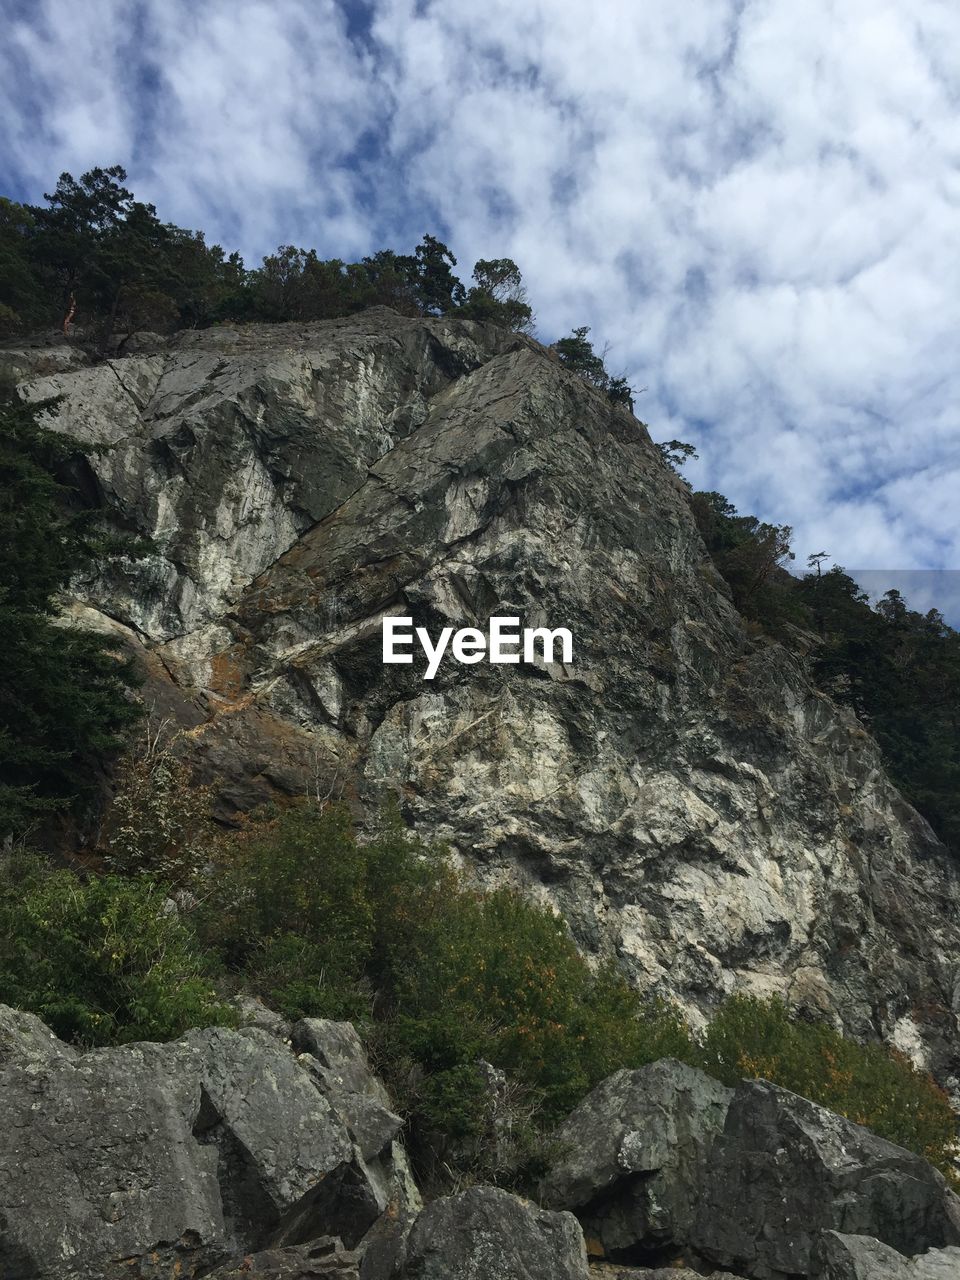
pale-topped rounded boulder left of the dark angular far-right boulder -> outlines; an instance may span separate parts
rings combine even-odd
[[[543,1183],[543,1203],[572,1210],[605,1254],[686,1244],[732,1097],[672,1059],[617,1071],[558,1129],[563,1155]]]

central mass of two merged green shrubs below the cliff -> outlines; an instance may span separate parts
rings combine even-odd
[[[396,819],[361,844],[344,809],[298,805],[250,823],[221,858],[204,929],[224,963],[289,1016],[372,1012],[385,1060],[417,1064],[424,1115],[442,1115],[477,1060],[557,1119],[618,1066],[690,1052],[676,1015],[593,970],[552,911],[470,890]]]

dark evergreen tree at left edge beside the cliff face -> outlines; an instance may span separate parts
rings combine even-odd
[[[0,837],[90,794],[138,713],[131,664],[55,622],[55,594],[104,545],[67,506],[77,445],[44,430],[45,407],[0,403]]]

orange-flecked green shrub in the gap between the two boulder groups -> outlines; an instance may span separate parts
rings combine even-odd
[[[612,966],[591,970],[562,920],[520,893],[471,892],[440,874],[399,911],[415,928],[379,977],[394,1039],[428,1074],[483,1059],[554,1120],[621,1066],[691,1053],[672,1011],[644,1006]]]

